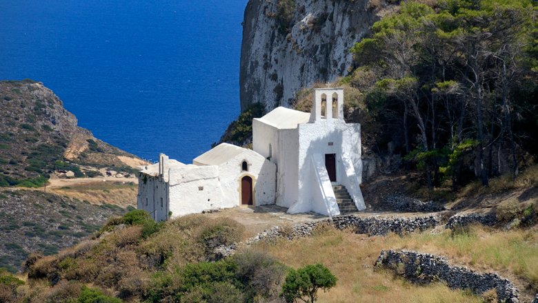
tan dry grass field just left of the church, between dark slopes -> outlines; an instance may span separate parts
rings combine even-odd
[[[59,196],[86,200],[92,204],[108,203],[128,207],[137,204],[138,186],[132,182],[90,182],[54,188],[50,191]]]

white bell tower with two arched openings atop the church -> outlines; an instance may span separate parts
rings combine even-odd
[[[343,120],[343,88],[316,88],[310,123]]]

